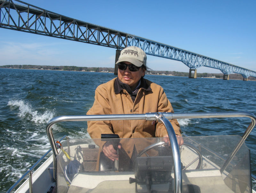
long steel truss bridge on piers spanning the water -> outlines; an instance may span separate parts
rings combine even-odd
[[[72,19],[20,0],[15,2],[18,3],[14,3],[14,0],[0,0],[0,27],[116,48],[116,60],[120,55],[120,50],[127,46],[137,46],[148,55],[181,61],[189,67],[189,78],[196,78],[196,69],[202,66],[219,69],[224,74],[223,79],[229,79],[230,73],[241,74],[244,80],[250,76],[256,77],[255,71],[230,63],[129,33]],[[116,66],[115,72],[117,72]]]

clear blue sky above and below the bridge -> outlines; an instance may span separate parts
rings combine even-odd
[[[256,71],[255,0],[23,1]],[[114,67],[115,54],[114,48],[0,28],[0,65]],[[147,65],[153,70],[189,72],[179,61],[156,56],[148,56]],[[221,73],[197,69],[203,72]]]

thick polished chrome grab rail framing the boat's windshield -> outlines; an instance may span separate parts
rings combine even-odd
[[[146,114],[132,114],[132,115],[64,115],[53,118],[47,123],[46,132],[49,138],[52,152],[54,157],[58,154],[57,146],[54,141],[52,134],[52,125],[57,122],[63,121],[100,121],[100,120],[147,120],[154,121],[157,120],[162,122],[168,132],[170,142],[172,145],[173,156],[174,156],[174,175],[175,175],[175,192],[182,192],[182,176],[181,176],[181,167],[180,167],[180,154],[177,152],[178,142],[172,128],[171,123],[168,121],[170,119],[185,119],[185,118],[227,118],[227,117],[248,117],[251,119],[251,123],[248,128],[245,130],[242,138],[245,140],[252,129],[256,124],[256,117],[250,112],[215,112],[215,113],[146,113]],[[237,148],[233,150],[228,160],[225,163],[225,166],[221,168],[223,171],[233,156],[236,154],[237,150],[240,148],[242,143],[237,145]]]

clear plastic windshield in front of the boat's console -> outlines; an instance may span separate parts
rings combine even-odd
[[[240,136],[183,139],[182,192],[252,191],[250,152]],[[105,144],[117,160],[105,156]],[[174,192],[172,148],[164,138],[68,139],[56,162],[57,192]]]

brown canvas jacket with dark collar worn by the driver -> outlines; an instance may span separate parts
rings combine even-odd
[[[101,84],[95,90],[95,101],[87,115],[144,114],[149,112],[172,112],[173,108],[161,86],[147,80],[149,89],[140,88],[133,103],[126,90],[115,93],[115,79]],[[151,88],[151,89],[150,89]],[[175,133],[180,135],[176,119],[170,120]],[[88,133],[92,138],[104,134],[118,134],[120,138],[164,137],[167,131],[160,122],[145,120],[88,121]]]

